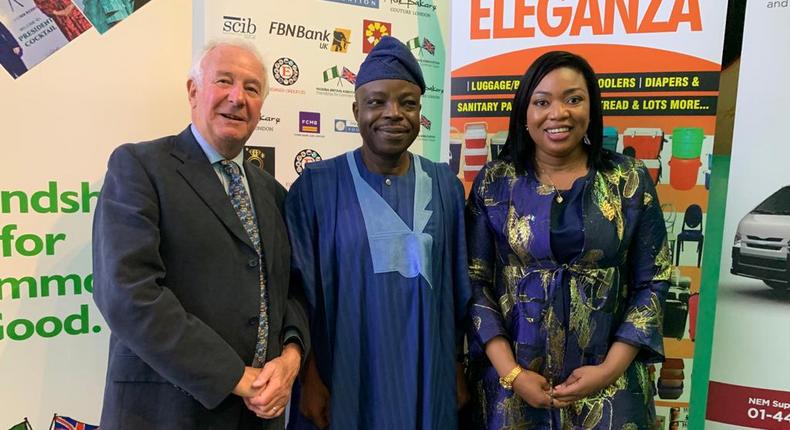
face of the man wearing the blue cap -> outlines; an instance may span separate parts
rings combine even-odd
[[[402,155],[420,132],[420,87],[400,79],[357,89],[354,118],[367,150],[381,158]]]

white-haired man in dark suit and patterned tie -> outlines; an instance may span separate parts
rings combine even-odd
[[[243,42],[213,44],[187,87],[192,124],[116,149],[96,208],[101,427],[280,429],[308,333],[285,189],[243,159],[265,68]]]

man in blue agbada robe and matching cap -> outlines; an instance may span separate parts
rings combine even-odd
[[[292,428],[457,426],[464,198],[446,164],[408,151],[424,92],[409,49],[384,37],[357,75],[362,147],[311,163],[288,194],[314,345]]]

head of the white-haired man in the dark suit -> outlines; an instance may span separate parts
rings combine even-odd
[[[263,65],[245,49],[220,45],[203,59],[202,71],[200,82],[187,83],[192,123],[220,154],[233,158],[261,116]]]

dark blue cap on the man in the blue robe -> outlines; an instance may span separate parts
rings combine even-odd
[[[411,82],[420,87],[420,94],[425,94],[425,79],[417,59],[403,42],[392,36],[382,37],[359,66],[354,89],[381,79]]]

